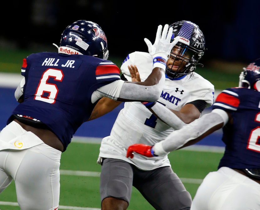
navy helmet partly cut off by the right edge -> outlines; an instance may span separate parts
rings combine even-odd
[[[260,58],[243,69],[244,71],[242,71],[239,76],[238,87],[245,87],[260,92]]]

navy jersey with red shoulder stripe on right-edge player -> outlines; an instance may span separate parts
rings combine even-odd
[[[226,144],[218,168],[260,168],[260,92],[247,88],[228,88],[221,92],[213,109],[229,112],[233,124],[223,127]]]

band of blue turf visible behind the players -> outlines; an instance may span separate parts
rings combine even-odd
[[[0,87],[0,130],[6,125],[6,121],[12,110],[17,105],[17,101],[14,98],[15,88],[4,88]],[[119,105],[116,109],[107,113],[106,115],[85,122],[81,127],[76,131],[74,136],[81,137],[97,137],[103,138],[109,136],[110,130],[112,129],[113,123],[116,120],[117,114],[120,109],[122,109],[123,103]],[[209,112],[211,108],[204,110],[204,113]],[[207,146],[224,146],[224,143],[221,141],[222,131],[216,131],[215,133],[207,136],[203,140],[197,143],[197,145],[207,145]]]

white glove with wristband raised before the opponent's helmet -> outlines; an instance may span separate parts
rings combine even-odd
[[[154,44],[152,44],[147,38],[144,38],[144,41],[148,47],[148,52],[153,58],[153,67],[165,69],[172,48],[179,41],[178,37],[174,38],[172,43],[170,42],[173,28],[170,27],[167,33],[168,28],[169,25],[165,24],[162,32],[162,25],[158,26]]]

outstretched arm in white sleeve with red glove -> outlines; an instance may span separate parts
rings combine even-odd
[[[153,146],[144,144],[129,146],[127,157],[133,158],[133,152],[148,157],[167,155],[170,151],[195,144],[214,131],[222,128],[231,120],[231,115],[226,111],[214,109],[211,113],[203,115],[201,118],[183,126],[180,130],[172,132],[166,139]]]

